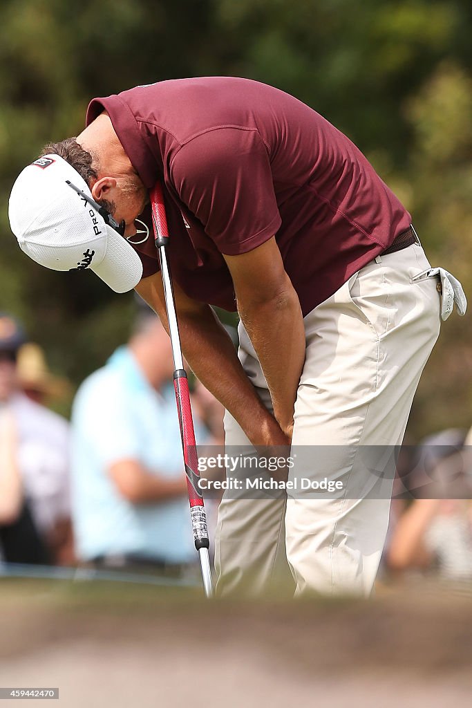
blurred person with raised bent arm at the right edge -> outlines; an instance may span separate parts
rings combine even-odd
[[[391,569],[472,580],[472,488],[464,437],[461,430],[445,430],[423,441],[413,485],[423,498],[410,503],[393,529]]]

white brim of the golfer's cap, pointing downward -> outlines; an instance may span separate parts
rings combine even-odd
[[[98,265],[90,270],[115,292],[128,292],[142,278],[142,263],[133,247],[115,229],[106,224],[107,251]]]

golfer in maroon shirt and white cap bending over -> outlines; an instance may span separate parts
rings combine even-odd
[[[161,181],[183,353],[226,408],[226,442],[329,445],[323,474],[344,480],[360,472],[352,450],[401,442],[439,294],[436,280],[413,281],[429,263],[410,215],[355,145],[292,96],[224,77],[96,98],[86,126],[18,178],[10,218],[23,250],[135,286],[165,321],[154,242],[135,224]],[[56,179],[60,208],[47,206]],[[140,263],[67,181],[136,234]],[[239,358],[209,305],[238,310]],[[318,474],[316,455],[303,464]],[[388,498],[362,493],[225,498],[217,591],[258,593],[289,569],[299,592],[369,593],[387,521]]]

